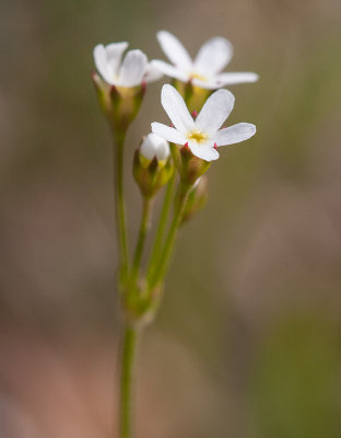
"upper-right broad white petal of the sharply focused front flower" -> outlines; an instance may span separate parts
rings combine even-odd
[[[213,135],[223,125],[233,110],[235,97],[227,90],[217,90],[205,101],[196,118],[196,127]]]

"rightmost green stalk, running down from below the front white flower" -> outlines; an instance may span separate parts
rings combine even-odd
[[[178,193],[177,193],[177,199],[176,199],[176,208],[174,211],[173,221],[169,227],[168,235],[167,235],[167,239],[166,239],[166,242],[164,245],[164,250],[160,257],[160,262],[158,262],[157,266],[152,272],[152,274],[149,278],[149,285],[150,285],[151,290],[153,290],[153,288],[164,278],[164,275],[168,267],[173,246],[175,243],[175,238],[176,238],[179,224],[181,222],[184,209],[186,207],[188,193],[189,193],[190,188],[191,188],[191,186],[189,186],[189,185],[185,186],[181,183],[179,185]]]

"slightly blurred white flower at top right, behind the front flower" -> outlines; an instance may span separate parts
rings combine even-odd
[[[210,90],[258,79],[258,74],[251,72],[222,72],[233,56],[232,44],[226,38],[216,36],[209,39],[192,60],[183,44],[169,32],[161,31],[156,36],[174,66],[161,60],[153,60],[151,65],[170,78],[191,81],[193,85]]]

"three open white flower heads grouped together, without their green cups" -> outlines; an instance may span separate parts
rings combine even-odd
[[[122,60],[128,47],[126,42],[107,46],[98,44],[94,48],[94,60],[104,81],[118,89],[132,89],[166,74],[199,89],[220,90],[207,100],[199,115],[193,118],[177,90],[169,84],[164,85],[161,103],[173,127],[152,123],[155,135],[173,143],[188,146],[193,155],[208,162],[220,157],[219,147],[234,145],[255,135],[255,125],[247,123],[220,129],[235,101],[234,95],[222,88],[258,79],[252,72],[222,72],[233,56],[233,46],[226,38],[209,39],[201,46],[195,60],[169,32],[158,32],[157,39],[173,65],[162,60],[149,62],[148,57],[138,49],[128,51]]]

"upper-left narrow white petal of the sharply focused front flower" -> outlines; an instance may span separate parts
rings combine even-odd
[[[173,125],[180,132],[186,134],[196,128],[184,99],[174,87],[169,84],[163,85],[161,91],[161,103]]]

